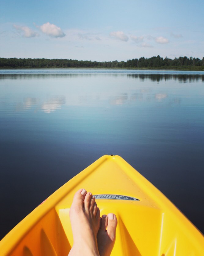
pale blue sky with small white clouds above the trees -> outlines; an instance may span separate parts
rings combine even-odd
[[[0,57],[204,57],[203,0],[4,0]]]

